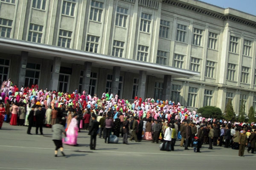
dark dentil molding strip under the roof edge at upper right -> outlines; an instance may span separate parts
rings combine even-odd
[[[208,15],[210,17],[215,17],[215,18],[218,18],[223,21],[231,20],[231,21],[234,21],[237,23],[241,23],[241,24],[256,28],[256,22],[253,22],[251,20],[246,20],[244,18],[240,18],[240,17],[234,16],[232,14],[221,14],[221,13],[218,13],[215,11],[210,11],[209,9],[201,8],[199,6],[193,6],[191,4],[183,3],[183,2],[180,2],[177,0],[163,0],[163,3],[167,3],[169,5],[177,6],[180,8],[185,8],[187,10],[194,11],[196,13],[200,13],[200,14],[204,14],[204,15]]]

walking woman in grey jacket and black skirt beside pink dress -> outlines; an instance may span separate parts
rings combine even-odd
[[[63,125],[61,125],[62,123],[61,119],[58,119],[57,122],[58,122],[57,124],[52,125],[52,140],[56,146],[54,154],[55,154],[55,157],[57,157],[58,149],[60,149],[62,155],[66,156],[63,152],[63,146],[62,146],[62,133],[64,133],[66,136],[65,128]]]

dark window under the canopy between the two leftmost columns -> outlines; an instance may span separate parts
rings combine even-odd
[[[27,63],[24,87],[28,87],[28,86],[31,87],[33,84],[38,85],[40,70],[41,70],[40,64],[31,63],[31,62]]]

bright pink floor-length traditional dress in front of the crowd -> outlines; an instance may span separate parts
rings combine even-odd
[[[62,139],[64,144],[76,145],[78,136],[77,120],[76,118],[71,119],[70,125],[67,128],[67,137]]]

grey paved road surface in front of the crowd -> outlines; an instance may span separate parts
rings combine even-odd
[[[0,170],[242,170],[254,169],[256,155],[238,150],[214,147],[208,150],[203,145],[202,153],[194,153],[192,148],[184,150],[180,141],[176,142],[174,152],[159,150],[159,144],[150,141],[130,142],[129,145],[105,144],[97,138],[96,150],[90,150],[90,136],[81,130],[79,146],[64,145],[66,157],[58,153],[54,157],[54,143],[50,128],[44,128],[44,136],[26,134],[27,127],[11,126],[3,123],[0,130]]]

